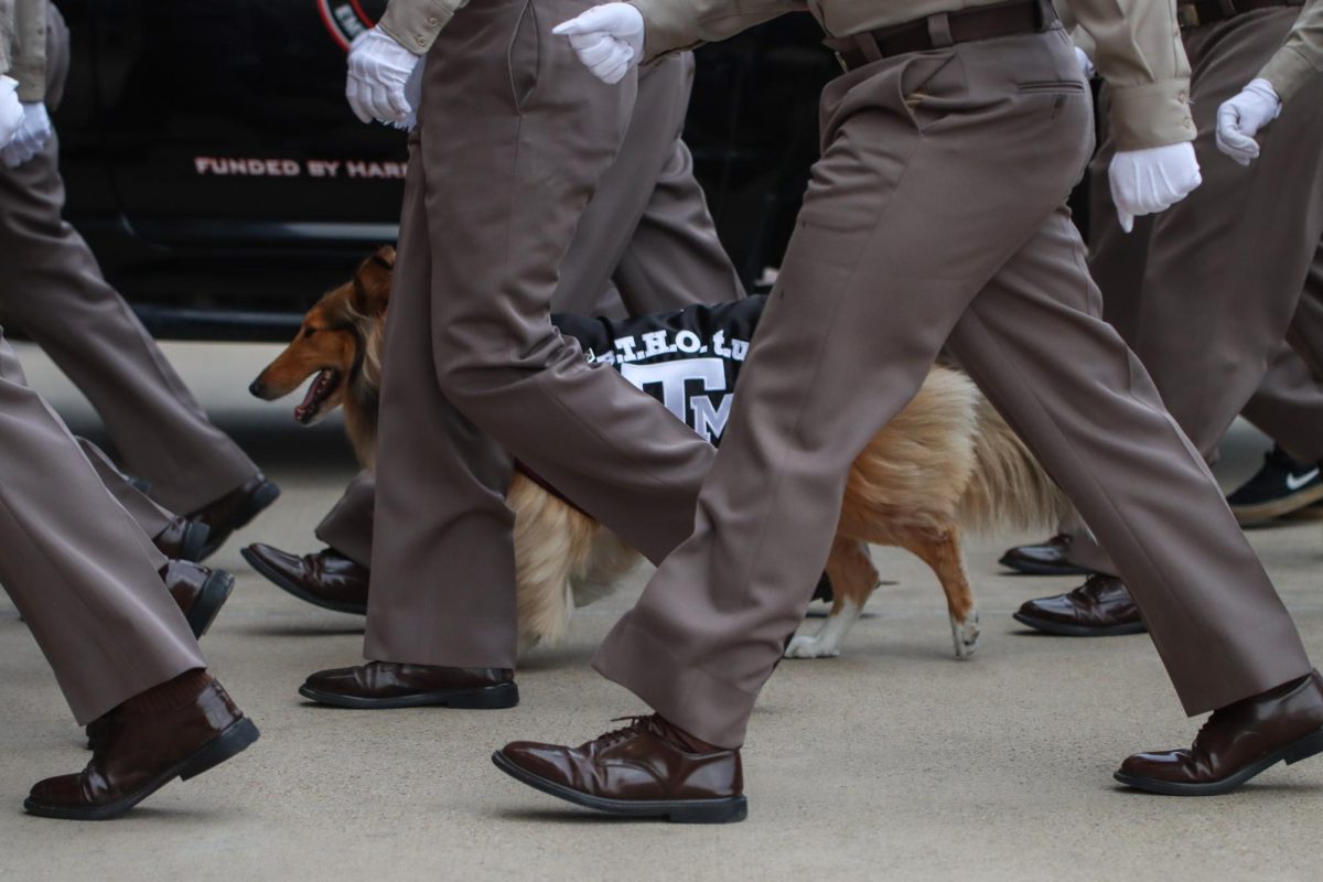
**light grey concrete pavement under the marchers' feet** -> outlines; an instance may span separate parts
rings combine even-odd
[[[22,815],[28,787],[86,762],[34,643],[0,595],[0,878],[106,879],[1318,879],[1323,758],[1274,768],[1238,795],[1138,795],[1111,771],[1135,750],[1188,743],[1147,637],[1028,636],[1011,612],[1074,579],[1008,577],[1011,542],[968,545],[983,644],[951,655],[941,591],[914,558],[878,549],[882,587],[836,660],[786,662],[745,751],[749,820],[692,828],[603,819],[527,789],[491,751],[515,738],[578,742],[639,703],[594,674],[594,645],[644,573],[581,611],[568,643],[536,651],[508,711],[344,711],[295,692],[360,660],[361,620],[257,577],[238,554],[312,550],[311,528],[353,472],[335,423],[296,427],[294,402],[245,387],[275,349],[172,345],[217,422],[284,496],[212,563],[238,587],[204,648],[262,727],[249,752],[172,784],[130,817],[66,824]],[[33,383],[75,430],[85,403],[24,346]],[[1237,480],[1262,439],[1238,426],[1220,467]],[[1323,659],[1323,526],[1252,534]],[[419,578],[438,574],[419,574]],[[811,625],[816,627],[816,624]]]

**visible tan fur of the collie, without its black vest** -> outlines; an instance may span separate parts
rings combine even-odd
[[[355,278],[304,317],[299,335],[253,383],[266,399],[316,374],[336,385],[319,399],[315,422],[336,406],[359,460],[376,461],[381,346],[394,250],[381,249]],[[304,414],[306,415],[306,414]],[[556,643],[576,606],[610,594],[640,555],[595,520],[516,472],[507,496],[515,512],[521,647]],[[978,610],[964,571],[960,534],[1056,524],[1070,505],[963,373],[937,366],[913,401],[855,460],[827,571],[832,612],[818,635],[796,637],[787,655],[839,653],[840,640],[878,584],[868,546],[906,549],[927,563],[946,592],[958,657],[978,641]]]

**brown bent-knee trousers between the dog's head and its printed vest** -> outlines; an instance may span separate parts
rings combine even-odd
[[[636,95],[550,33],[589,5],[470,4],[427,58],[386,323],[369,659],[515,665],[512,455],[654,561],[693,528],[712,447],[550,324]],[[734,295],[728,275],[712,299]]]

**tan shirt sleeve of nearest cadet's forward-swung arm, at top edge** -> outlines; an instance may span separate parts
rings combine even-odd
[[[681,52],[733,37],[787,12],[804,0],[630,0],[643,13],[643,58]]]

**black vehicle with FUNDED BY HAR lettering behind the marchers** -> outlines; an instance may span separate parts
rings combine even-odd
[[[284,340],[393,242],[405,136],[344,99],[385,0],[60,0],[67,216],[155,333]],[[685,128],[745,282],[777,266],[839,73],[807,15],[699,52]]]

